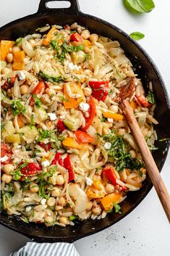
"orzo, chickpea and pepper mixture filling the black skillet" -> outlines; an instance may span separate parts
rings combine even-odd
[[[47,226],[121,213],[146,173],[121,102],[155,149],[149,87],[118,41],[77,23],[1,40],[1,210]]]

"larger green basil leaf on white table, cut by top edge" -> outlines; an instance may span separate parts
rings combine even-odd
[[[130,12],[151,12],[155,7],[153,0],[124,0],[124,5]]]

